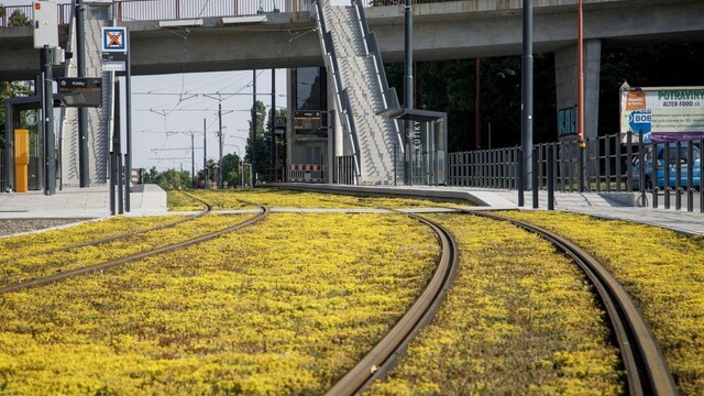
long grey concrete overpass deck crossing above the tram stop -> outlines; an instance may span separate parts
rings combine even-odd
[[[520,0],[468,0],[414,7],[415,59],[518,55]],[[600,45],[704,41],[701,0],[585,0],[584,36]],[[133,75],[322,66],[307,11],[263,14],[258,22],[211,16],[186,22],[121,22],[131,32]],[[402,62],[404,15],[398,6],[367,9],[385,62]],[[576,41],[576,0],[534,1],[534,48],[552,53]],[[161,25],[160,25],[161,24]],[[170,26],[165,26],[168,24]],[[66,29],[62,30],[66,33]],[[0,80],[32,79],[38,52],[31,28],[0,29]],[[56,70],[61,76],[62,70]]]

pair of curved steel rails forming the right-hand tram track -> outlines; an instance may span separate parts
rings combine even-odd
[[[596,258],[565,238],[534,224],[486,212],[461,211],[496,221],[508,221],[518,228],[548,240],[559,251],[569,256],[584,272],[596,289],[598,298],[606,310],[626,371],[628,394],[678,395],[672,374],[640,311],[624,287]],[[443,255],[446,254],[446,244],[450,243],[449,241],[452,241],[454,246],[455,242],[452,235],[440,224],[417,215],[405,215],[426,222],[435,230],[442,241]],[[442,234],[446,237],[442,237]],[[457,254],[457,246],[453,250],[454,254]],[[438,296],[447,294],[447,288],[451,284],[451,273],[457,271],[458,264],[455,261],[454,265],[452,265],[453,268],[448,270],[448,264],[444,263],[444,257],[441,258],[432,280],[409,311],[371,352],[330,388],[327,395],[358,394],[373,381],[385,375],[396,358],[406,349],[410,339],[422,326],[421,323],[429,322],[435,311],[439,308],[441,298],[435,299],[436,297],[431,297],[433,293]],[[444,271],[447,271],[444,280],[438,280],[439,275]],[[442,286],[438,287],[436,282],[442,284]],[[429,302],[431,300],[433,302]],[[420,314],[420,311],[424,314]]]

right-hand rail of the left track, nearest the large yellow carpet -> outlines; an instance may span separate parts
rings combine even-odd
[[[246,204],[251,204],[251,202],[246,202]],[[256,204],[254,204],[256,205]],[[92,272],[96,271],[102,271],[102,270],[107,270],[110,267],[114,267],[118,265],[122,265],[122,264],[127,264],[130,262],[134,262],[141,258],[145,258],[145,257],[150,257],[156,254],[162,254],[162,253],[166,253],[166,252],[170,252],[180,248],[186,248],[189,245],[194,245],[197,243],[201,243],[201,242],[206,242],[209,240],[212,240],[217,237],[220,237],[222,234],[226,234],[228,232],[232,232],[235,230],[239,230],[241,228],[254,224],[256,222],[262,221],[264,218],[266,218],[266,216],[268,216],[270,213],[270,209],[266,206],[263,205],[256,205],[260,207],[261,211],[241,222],[238,224],[234,224],[232,227],[226,228],[223,230],[219,230],[219,231],[215,231],[215,232],[210,232],[197,238],[193,238],[186,241],[182,241],[178,243],[174,243],[170,245],[166,245],[166,246],[162,246],[162,248],[157,248],[151,251],[145,251],[145,252],[140,252],[140,253],[135,253],[133,255],[127,256],[127,257],[121,257],[121,258],[117,258],[117,260],[112,260],[109,262],[105,262],[105,263],[99,263],[99,264],[95,264],[95,265],[89,265],[89,266],[85,266],[82,268],[77,268],[77,270],[72,270],[72,271],[67,271],[67,272],[63,272],[63,273],[58,273],[58,274],[53,274],[53,275],[48,275],[48,276],[42,276],[42,277],[37,277],[34,279],[30,279],[30,280],[25,280],[25,282],[20,282],[16,284],[12,284],[12,285],[8,285],[8,286],[3,286],[0,287],[0,295],[6,294],[6,293],[11,293],[11,292],[18,292],[18,290],[22,290],[22,289],[26,289],[26,288],[32,288],[32,287],[37,287],[37,286],[44,286],[54,282],[59,282],[59,280],[64,280],[70,277],[76,277],[76,276],[80,276],[80,275],[87,275],[90,274]]]

